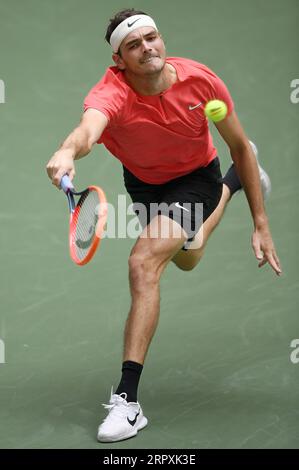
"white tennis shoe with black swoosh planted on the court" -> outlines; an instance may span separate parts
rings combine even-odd
[[[136,436],[138,431],[147,425],[147,419],[143,416],[140,404],[127,402],[127,394],[113,394],[109,405],[103,404],[109,410],[107,417],[98,428],[98,441],[116,442]]]

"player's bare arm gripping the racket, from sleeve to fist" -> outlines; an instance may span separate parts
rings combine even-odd
[[[74,160],[89,154],[107,124],[107,117],[97,109],[90,108],[85,111],[79,126],[67,137],[47,164],[48,176],[55,186],[60,187],[60,180],[66,173],[71,180],[74,178]]]

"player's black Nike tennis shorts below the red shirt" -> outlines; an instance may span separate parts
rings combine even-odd
[[[163,184],[149,184],[138,179],[123,166],[125,187],[142,228],[157,215],[178,222],[194,238],[202,223],[216,209],[222,195],[219,158],[206,167]]]

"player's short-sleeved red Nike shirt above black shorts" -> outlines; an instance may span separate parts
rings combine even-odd
[[[109,67],[84,100],[84,111],[98,109],[109,121],[98,143],[151,184],[207,166],[217,151],[204,106],[220,99],[228,115],[234,108],[225,84],[208,67],[180,57],[166,62],[176,69],[178,80],[159,95],[139,95],[123,72]]]

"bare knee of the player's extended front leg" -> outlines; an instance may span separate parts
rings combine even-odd
[[[139,288],[159,282],[157,263],[150,255],[131,254],[129,257],[129,278],[132,287]]]

